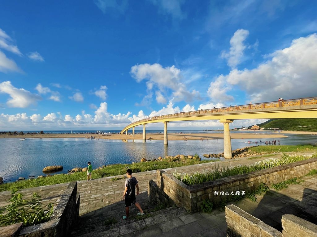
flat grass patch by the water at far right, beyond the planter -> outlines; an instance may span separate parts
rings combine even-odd
[[[296,151],[317,151],[313,145],[278,145],[278,146],[256,146],[250,147],[249,151],[275,153],[275,152],[296,152]]]

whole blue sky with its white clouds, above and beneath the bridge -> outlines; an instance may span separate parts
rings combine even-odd
[[[122,129],[316,96],[316,11],[315,1],[3,1],[0,130]]]

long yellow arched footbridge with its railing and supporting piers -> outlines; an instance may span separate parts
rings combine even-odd
[[[196,110],[190,112],[180,112],[161,116],[154,116],[142,119],[127,125],[121,134],[132,128],[134,137],[134,128],[143,125],[143,140],[146,140],[146,124],[164,123],[164,144],[168,144],[167,123],[173,121],[191,121],[191,120],[220,120],[224,125],[224,156],[231,158],[231,138],[229,123],[234,119],[287,119],[287,118],[317,118],[317,97],[273,101],[249,105],[230,106],[223,108],[213,108],[205,110]]]

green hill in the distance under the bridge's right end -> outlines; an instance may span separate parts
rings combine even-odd
[[[280,128],[288,131],[317,132],[317,119],[270,119],[262,124],[260,128]]]

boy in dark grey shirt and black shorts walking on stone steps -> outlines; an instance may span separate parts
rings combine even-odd
[[[137,195],[139,195],[139,185],[138,180],[135,177],[132,177],[132,169],[126,170],[126,188],[123,192],[123,200],[124,200],[124,206],[126,207],[126,215],[123,216],[123,219],[129,218],[129,211],[131,207],[131,204],[134,204],[138,209],[139,213],[138,216],[143,216],[144,211],[142,210],[139,203],[135,201],[135,187],[137,188]]]

